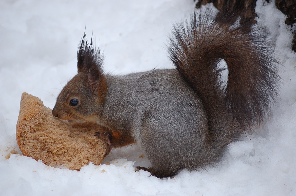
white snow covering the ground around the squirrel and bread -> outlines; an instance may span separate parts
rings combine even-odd
[[[273,116],[242,141],[230,144],[217,167],[183,170],[158,179],[137,146],[115,149],[81,171],[47,167],[20,155],[15,126],[23,92],[53,108],[76,72],[84,29],[104,51],[104,70],[124,74],[170,68],[165,50],[172,24],[194,11],[192,0],[0,1],[0,195],[296,195],[296,55],[285,16],[257,1],[283,63],[281,100]],[[208,5],[211,7],[211,5]],[[15,150],[18,154],[9,154]],[[9,159],[7,159],[9,158]]]

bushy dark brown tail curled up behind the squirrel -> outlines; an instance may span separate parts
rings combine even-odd
[[[176,69],[202,99],[209,131],[217,131],[211,129],[221,127],[225,115],[241,130],[257,126],[268,117],[278,95],[278,62],[266,32],[229,17],[195,13],[189,23],[173,27],[168,47]],[[228,66],[225,89],[217,67],[221,60]]]

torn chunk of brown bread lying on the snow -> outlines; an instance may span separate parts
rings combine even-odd
[[[99,165],[107,144],[94,134],[104,128],[94,123],[71,124],[52,116],[51,111],[38,97],[22,94],[16,126],[22,153],[46,165],[72,170],[90,162]]]

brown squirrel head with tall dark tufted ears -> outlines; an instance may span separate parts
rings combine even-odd
[[[96,122],[107,90],[102,63],[100,50],[88,44],[84,33],[77,52],[78,74],[59,93],[53,116],[75,123]]]

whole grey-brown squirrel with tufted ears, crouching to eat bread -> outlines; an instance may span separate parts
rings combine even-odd
[[[216,165],[228,144],[269,117],[278,99],[280,63],[272,44],[257,24],[201,11],[173,26],[168,52],[174,69],[106,74],[102,52],[84,33],[78,74],[59,93],[52,115],[103,126],[95,136],[107,141],[106,155],[138,143],[151,167],[136,170],[156,177]]]

